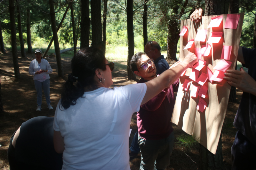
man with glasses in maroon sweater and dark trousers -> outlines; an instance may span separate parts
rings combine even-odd
[[[153,58],[137,53],[132,56],[130,63],[132,71],[141,76],[138,83],[145,83],[157,77]],[[179,79],[140,106],[137,113],[140,169],[165,169],[170,164],[174,143],[171,113],[175,103],[174,92],[178,91],[178,87]]]

